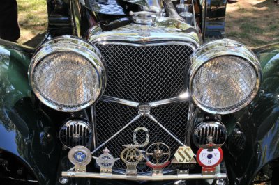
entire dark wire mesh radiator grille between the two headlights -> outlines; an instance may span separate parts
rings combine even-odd
[[[188,45],[96,45],[100,49],[107,65],[107,88],[105,95],[135,102],[152,102],[176,97],[185,89],[185,72],[190,65],[189,57],[193,49]],[[119,129],[133,120],[138,114],[137,108],[99,101],[96,104],[96,145],[100,145]],[[188,102],[151,108],[153,115],[176,138],[184,142],[188,118]],[[119,157],[122,145],[133,144],[133,131],[137,127],[149,129],[149,145],[163,142],[171,147],[172,155],[179,147],[166,131],[149,118],[140,118],[105,147],[114,157]],[[145,134],[137,132],[137,142],[144,143]],[[148,146],[149,146],[148,145]],[[146,146],[146,147],[148,147]],[[146,147],[140,150],[146,150]],[[104,148],[97,152],[97,156]],[[126,169],[125,163],[116,161],[115,168]],[[144,163],[139,172],[151,169]]]

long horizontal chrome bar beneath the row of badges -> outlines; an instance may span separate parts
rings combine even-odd
[[[202,175],[202,174],[179,174],[179,175],[106,175],[94,172],[62,172],[62,177],[78,177],[78,178],[96,178],[96,179],[121,179],[121,180],[132,180],[132,181],[164,181],[164,180],[193,180],[193,179],[226,179],[227,174],[216,173],[213,175]]]

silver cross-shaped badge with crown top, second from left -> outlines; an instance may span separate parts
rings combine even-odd
[[[96,159],[96,163],[100,166],[100,172],[106,174],[112,173],[115,161],[119,160],[119,158],[114,159],[107,148],[103,150],[103,154],[100,154],[99,157],[93,156],[93,159]]]

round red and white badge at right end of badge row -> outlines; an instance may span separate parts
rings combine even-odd
[[[197,163],[203,168],[215,168],[223,160],[223,150],[218,147],[215,149],[199,148],[197,151]]]

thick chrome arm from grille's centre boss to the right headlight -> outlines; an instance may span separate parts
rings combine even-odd
[[[190,95],[187,92],[187,93],[181,93],[181,95],[179,95],[178,97],[172,97],[172,98],[168,98],[168,99],[158,100],[155,102],[149,102],[148,104],[151,106],[151,108],[153,108],[153,107],[157,107],[157,106],[164,106],[167,104],[187,102],[189,100],[190,100]]]

